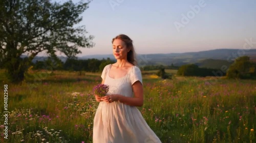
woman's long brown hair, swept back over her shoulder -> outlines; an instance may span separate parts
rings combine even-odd
[[[137,66],[138,64],[136,61],[136,53],[135,53],[135,50],[133,47],[133,40],[130,37],[128,37],[127,35],[120,34],[112,39],[112,44],[113,44],[114,40],[116,40],[116,39],[122,40],[125,43],[126,47],[128,49],[130,49],[130,51],[127,53],[127,61],[129,63]]]

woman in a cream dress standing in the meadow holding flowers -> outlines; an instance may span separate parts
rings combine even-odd
[[[147,125],[136,106],[143,105],[143,86],[140,69],[136,67],[133,41],[126,35],[112,40],[117,62],[104,67],[102,84],[109,85],[94,117],[94,143],[158,143],[157,135]]]

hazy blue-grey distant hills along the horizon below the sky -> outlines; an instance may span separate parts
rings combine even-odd
[[[181,66],[184,64],[197,64],[205,68],[220,68],[222,65],[229,66],[239,53],[241,55],[250,56],[252,61],[256,62],[256,49],[239,50],[239,49],[215,49],[199,52],[184,53],[156,53],[156,54],[138,54],[137,61],[139,65],[171,65]],[[96,54],[80,56],[78,59],[98,59],[102,60],[110,58],[115,60],[112,54]],[[33,62],[43,61],[46,57],[36,56]],[[67,58],[61,57],[61,61],[65,62]]]

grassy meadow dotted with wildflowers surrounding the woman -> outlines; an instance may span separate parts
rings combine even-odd
[[[93,87],[100,73],[33,71],[8,84],[8,139],[4,95],[0,98],[0,142],[92,142],[98,106]],[[256,81],[143,76],[144,105],[138,107],[162,142],[256,142]],[[144,143],[144,142],[141,142]],[[145,143],[154,143],[145,141]]]

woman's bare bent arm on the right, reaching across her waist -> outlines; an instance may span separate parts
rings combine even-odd
[[[133,85],[134,97],[125,97],[122,95],[106,95],[101,98],[105,102],[120,101],[130,106],[143,106],[143,86],[140,81],[136,81]],[[108,98],[110,97],[110,100]]]

